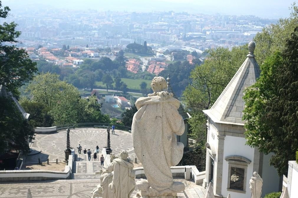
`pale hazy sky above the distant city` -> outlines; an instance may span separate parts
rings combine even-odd
[[[285,18],[294,0],[2,0],[14,8],[53,7],[128,12],[175,11]]]

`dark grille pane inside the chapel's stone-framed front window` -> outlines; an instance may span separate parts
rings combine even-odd
[[[230,189],[243,190],[244,169],[231,167]]]

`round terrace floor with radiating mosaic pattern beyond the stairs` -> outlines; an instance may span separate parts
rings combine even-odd
[[[128,151],[129,156],[134,159],[134,153],[131,134],[124,131],[115,130],[115,134],[111,134],[111,149],[116,155],[124,149]],[[94,152],[98,145],[101,149],[107,146],[107,131],[106,129],[71,129],[70,130],[70,146],[77,148],[80,144],[83,149],[90,148]],[[61,131],[54,134],[36,134],[35,140],[32,141],[32,148],[38,148],[41,153],[28,156],[26,163],[37,163],[38,158],[45,162],[48,158],[49,161],[56,161],[64,159],[64,149],[66,149],[66,131]],[[92,152],[92,153],[93,153]],[[83,153],[83,151],[82,151]],[[76,154],[78,151],[76,149]],[[80,159],[80,158],[83,159]],[[86,161],[86,157],[80,155],[77,161]]]

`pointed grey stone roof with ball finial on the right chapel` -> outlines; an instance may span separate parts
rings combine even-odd
[[[260,77],[260,66],[254,58],[255,43],[249,42],[249,54],[224,91],[208,110],[203,112],[216,123],[244,125],[242,120],[243,91]]]

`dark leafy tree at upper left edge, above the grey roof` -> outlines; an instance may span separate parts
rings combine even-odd
[[[0,1],[0,18],[6,18],[10,9],[2,8]],[[9,91],[18,94],[17,89],[34,77],[37,71],[36,63],[28,58],[24,49],[19,49],[16,44],[20,31],[15,31],[17,24],[4,22],[0,25],[0,85],[5,85]],[[6,42],[12,45],[4,45]]]

